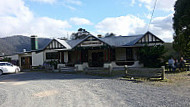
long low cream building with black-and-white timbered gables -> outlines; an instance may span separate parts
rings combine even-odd
[[[132,36],[95,37],[91,34],[74,40],[52,39],[43,49],[37,49],[37,38],[31,38],[32,51],[20,54],[20,59],[28,57],[30,66],[43,65],[47,61],[57,61],[59,65],[85,67],[113,67],[128,65],[142,67],[138,61],[138,51],[143,46],[163,45],[163,41],[151,32]],[[34,43],[33,43],[34,42]],[[36,47],[36,48],[35,48]],[[21,61],[21,63],[23,63]],[[20,65],[22,66],[22,65]],[[26,65],[25,65],[26,66]]]

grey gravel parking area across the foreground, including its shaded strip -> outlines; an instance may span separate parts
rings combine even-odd
[[[0,76],[0,107],[139,106],[190,107],[190,96],[171,87],[83,74],[25,72]]]

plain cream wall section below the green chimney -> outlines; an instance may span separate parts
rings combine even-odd
[[[39,53],[32,52],[32,66],[43,65],[43,63],[44,63],[43,51]]]

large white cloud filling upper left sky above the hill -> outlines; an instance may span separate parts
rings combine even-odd
[[[66,35],[71,25],[67,21],[34,17],[22,0],[0,1],[0,36],[39,35],[58,37]]]

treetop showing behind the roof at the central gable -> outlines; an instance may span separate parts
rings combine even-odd
[[[82,38],[85,38],[88,35],[90,35],[90,33],[88,31],[86,31],[85,29],[79,28],[77,33],[72,33],[71,34],[71,39],[72,40],[82,39]]]

